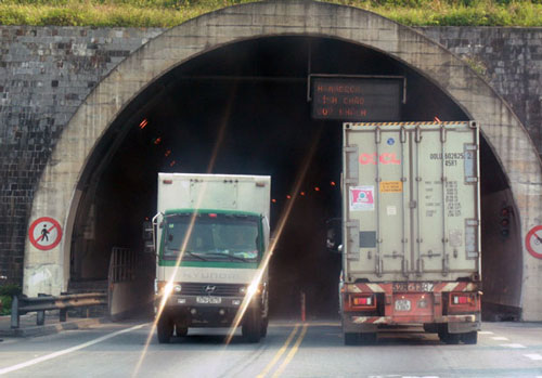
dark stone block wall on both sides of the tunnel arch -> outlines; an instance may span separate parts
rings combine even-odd
[[[542,28],[417,30],[483,76],[542,153]],[[34,192],[64,127],[102,78],[163,31],[0,26],[0,276],[22,283]]]

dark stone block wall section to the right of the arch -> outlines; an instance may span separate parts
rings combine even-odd
[[[417,28],[467,62],[511,105],[542,154],[542,28]]]

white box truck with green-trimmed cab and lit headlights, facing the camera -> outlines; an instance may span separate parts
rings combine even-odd
[[[271,179],[267,175],[158,173],[155,307],[160,343],[190,327],[230,327],[245,296],[243,336],[258,342],[268,326]],[[166,296],[166,297],[165,297]]]

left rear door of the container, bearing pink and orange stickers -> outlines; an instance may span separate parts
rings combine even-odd
[[[403,279],[412,261],[409,133],[397,126],[352,127],[344,142],[347,271]]]

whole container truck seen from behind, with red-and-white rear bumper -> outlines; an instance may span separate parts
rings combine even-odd
[[[343,129],[345,343],[374,341],[379,328],[412,324],[447,343],[476,343],[477,123],[344,123]]]

